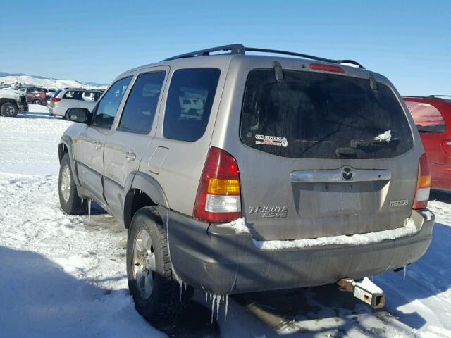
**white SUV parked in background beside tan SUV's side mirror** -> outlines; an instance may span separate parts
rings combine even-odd
[[[94,108],[103,91],[96,89],[66,88],[55,92],[49,100],[49,112],[66,118],[69,108]]]

